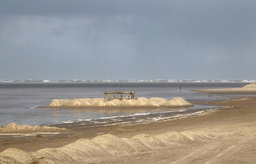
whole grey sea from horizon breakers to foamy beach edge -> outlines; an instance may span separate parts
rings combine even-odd
[[[0,124],[81,124],[84,126],[155,122],[198,115],[222,107],[198,102],[226,100],[240,94],[207,94],[192,90],[241,87],[255,81],[199,80],[0,80]],[[189,108],[79,109],[36,108],[54,99],[99,98],[106,91],[135,91],[135,97],[183,97],[194,103]]]

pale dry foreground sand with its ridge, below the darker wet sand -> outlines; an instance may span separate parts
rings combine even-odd
[[[222,159],[255,148],[255,125],[256,122],[229,124],[202,131],[139,134],[131,138],[106,134],[34,152],[8,148],[0,153],[0,163],[161,163],[161,159],[163,163],[233,163]],[[248,158],[255,161],[254,156]]]

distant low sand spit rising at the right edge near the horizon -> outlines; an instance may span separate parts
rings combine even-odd
[[[233,93],[233,94],[256,94],[256,83],[244,85],[244,87],[237,87],[231,89],[213,89],[213,90],[194,90],[196,92],[207,92],[207,93]]]

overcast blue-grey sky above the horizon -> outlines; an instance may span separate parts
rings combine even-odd
[[[0,0],[0,79],[256,79],[255,0]]]

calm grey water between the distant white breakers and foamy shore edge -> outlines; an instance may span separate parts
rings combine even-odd
[[[95,118],[150,113],[144,111],[108,112],[82,109],[36,109],[49,105],[54,99],[98,98],[108,90],[135,90],[136,97],[159,97],[168,100],[183,97],[191,103],[212,100],[225,100],[226,95],[190,92],[219,87],[239,87],[240,83],[0,83],[0,124],[11,122],[30,125],[62,124]],[[182,90],[180,92],[180,87]],[[240,96],[240,95],[233,95]],[[200,105],[199,105],[200,106]],[[198,107],[198,106],[196,106]],[[201,108],[201,107],[200,107]],[[159,117],[159,116],[158,116]]]

